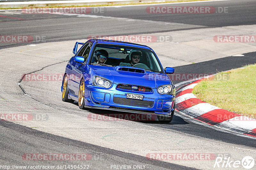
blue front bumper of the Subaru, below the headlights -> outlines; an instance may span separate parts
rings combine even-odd
[[[143,101],[127,99],[127,93],[143,95]],[[160,95],[156,88],[153,92],[140,92],[116,89],[116,84],[109,89],[85,85],[84,99],[85,107],[89,108],[171,116],[175,95]]]

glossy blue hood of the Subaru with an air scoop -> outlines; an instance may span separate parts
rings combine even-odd
[[[171,84],[169,77],[163,73],[146,71],[146,73],[134,73],[118,71],[116,67],[90,65],[97,75],[110,80],[115,84],[133,84],[157,88],[164,84]],[[118,67],[118,66],[117,66]],[[138,68],[140,69],[140,68]]]

